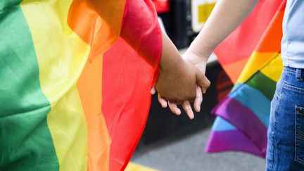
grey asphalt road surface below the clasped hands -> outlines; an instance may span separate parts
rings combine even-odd
[[[171,137],[135,151],[132,162],[157,170],[172,171],[260,171],[265,159],[241,152],[208,154],[203,151],[210,128]]]

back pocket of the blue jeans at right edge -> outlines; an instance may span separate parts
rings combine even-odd
[[[295,160],[304,165],[304,108],[296,106],[295,110]]]

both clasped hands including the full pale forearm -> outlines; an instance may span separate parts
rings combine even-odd
[[[156,82],[158,101],[164,108],[167,107],[168,101],[168,106],[172,112],[179,115],[181,112],[177,108],[177,103],[182,103],[182,107],[189,115],[189,118],[194,118],[189,101],[194,100],[194,109],[196,111],[200,110],[201,102],[203,101],[202,93],[205,93],[210,86],[209,80],[204,76],[205,66],[210,54],[246,18],[248,12],[253,9],[257,2],[257,0],[217,1],[201,32],[183,55],[184,60],[191,63],[192,68],[186,64],[177,67],[177,63],[186,62],[180,60],[179,53],[170,39],[166,35],[163,36],[163,53],[160,60],[160,68],[168,67],[168,70],[173,70],[172,72],[175,71],[174,74],[176,74],[174,76],[170,72],[170,74],[164,75],[164,72],[160,72],[160,77]],[[168,56],[171,56],[172,60],[178,59],[179,61],[161,63]],[[173,65],[176,65],[175,69],[167,66],[172,62],[174,63]],[[171,78],[168,79],[169,77]],[[196,86],[194,86],[195,84]],[[155,90],[151,91],[151,93],[155,92]]]

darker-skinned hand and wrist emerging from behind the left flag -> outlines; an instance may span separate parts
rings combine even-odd
[[[196,84],[203,89],[207,89],[210,84],[194,65],[182,59],[167,34],[163,34],[159,69],[156,89],[163,99],[174,103],[193,100],[196,96]]]

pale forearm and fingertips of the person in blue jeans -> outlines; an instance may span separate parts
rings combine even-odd
[[[219,0],[206,21],[203,29],[198,34],[194,42],[191,43],[189,49],[182,55],[184,60],[189,61],[201,70],[205,74],[205,67],[210,54],[215,47],[220,44],[235,28],[246,18],[248,13],[252,11],[254,6],[258,3],[258,0]],[[196,94],[199,94],[196,90]],[[205,91],[205,90],[203,90]],[[194,100],[194,108],[198,111],[201,105],[202,98]],[[161,96],[158,97],[158,101],[163,107],[168,106],[173,113],[179,115],[180,110],[177,108],[177,103],[172,101],[165,101]],[[191,108],[189,101],[183,102],[183,108],[187,108],[186,111],[189,118],[193,118],[193,112],[189,111]]]

